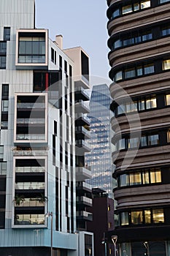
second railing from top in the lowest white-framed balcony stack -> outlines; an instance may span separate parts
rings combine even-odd
[[[42,183],[42,182],[18,182],[15,184],[15,189],[23,189],[23,190],[45,189],[45,183]]]

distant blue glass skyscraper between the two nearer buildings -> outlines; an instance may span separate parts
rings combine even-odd
[[[90,96],[91,151],[85,154],[90,166],[91,178],[87,181],[93,188],[103,189],[113,197],[111,159],[111,97],[107,84],[93,86]]]

